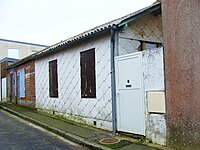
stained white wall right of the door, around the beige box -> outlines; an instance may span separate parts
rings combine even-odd
[[[163,48],[143,51],[146,135],[153,143],[166,145],[165,114],[148,113],[147,92],[164,91]]]

